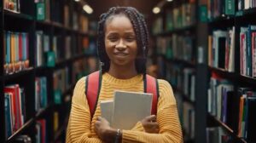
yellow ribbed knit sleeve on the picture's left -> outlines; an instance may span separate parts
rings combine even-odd
[[[67,125],[67,143],[99,143],[102,140],[90,132],[90,110],[84,94],[85,77],[81,78],[73,91],[72,108]]]

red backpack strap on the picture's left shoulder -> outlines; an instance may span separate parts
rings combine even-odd
[[[94,112],[96,111],[96,106],[102,87],[102,72],[97,71],[90,73],[86,77],[85,81],[85,95],[90,108],[90,119],[92,119]]]

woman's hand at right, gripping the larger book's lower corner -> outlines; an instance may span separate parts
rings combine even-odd
[[[155,115],[143,118],[142,124],[147,133],[159,133],[159,124],[156,122]]]

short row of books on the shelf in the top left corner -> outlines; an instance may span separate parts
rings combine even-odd
[[[20,13],[20,0],[3,0],[3,9]]]

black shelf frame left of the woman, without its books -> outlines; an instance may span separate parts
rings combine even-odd
[[[67,77],[69,78],[70,83],[67,83],[69,88],[65,90],[65,92],[61,93],[61,98],[65,98],[67,94],[72,94],[73,88],[75,83],[73,83],[73,63],[75,63],[78,60],[86,59],[89,57],[96,58],[96,54],[86,54],[84,52],[84,47],[82,45],[82,42],[79,41],[80,37],[90,37],[89,40],[95,40],[95,35],[90,35],[89,31],[81,31],[78,27],[77,30],[73,27],[73,22],[78,23],[79,20],[73,21],[73,12],[79,14],[79,16],[88,17],[83,12],[82,5],[79,5],[79,3],[74,2],[73,0],[55,0],[55,2],[49,0],[49,7],[50,9],[53,8],[53,3],[60,3],[60,15],[52,15],[52,13],[49,13],[49,20],[38,20],[37,18],[37,5],[34,3],[34,0],[27,0],[27,1],[21,1],[20,2],[20,12],[15,13],[13,11],[9,11],[6,9],[3,9],[3,3],[0,3],[0,55],[2,60],[0,60],[0,120],[2,121],[0,123],[1,129],[0,129],[0,142],[14,142],[16,137],[18,137],[21,134],[28,134],[32,138],[32,142],[35,142],[35,135],[36,135],[36,123],[40,119],[45,119],[46,121],[46,129],[47,129],[47,142],[55,142],[56,140],[64,142],[65,136],[63,138],[60,138],[60,136],[64,133],[64,130],[67,128],[67,122],[62,122],[61,117],[65,117],[68,119],[69,114],[69,106],[70,100],[67,102],[61,101],[60,108],[56,108],[55,101],[54,101],[54,80],[53,75],[56,71],[67,68]],[[67,17],[67,21],[69,21],[68,26],[65,25],[64,22],[64,4],[68,6],[69,9],[69,16]],[[63,11],[62,11],[62,10]],[[57,17],[57,20],[55,20],[55,16]],[[90,21],[90,19],[89,19]],[[13,73],[4,73],[4,64],[6,59],[5,57],[5,45],[3,45],[4,41],[4,32],[10,31],[14,33],[21,33],[26,32],[28,34],[28,51],[29,56],[27,57],[29,60],[29,68],[23,69],[20,72],[13,72]],[[43,31],[44,36],[49,37],[49,51],[54,51],[53,49],[53,38],[55,36],[60,36],[58,49],[64,50],[66,37],[71,38],[70,47],[72,50],[72,54],[69,58],[66,58],[65,53],[61,54],[60,59],[55,59],[55,66],[47,66],[46,62],[43,63],[41,66],[37,66],[37,37],[36,34],[38,31]],[[96,32],[94,32],[96,33]],[[5,41],[4,41],[5,42]],[[44,43],[42,41],[42,43]],[[36,45],[36,46],[35,46]],[[60,52],[60,51],[58,51]],[[42,54],[42,56],[44,56]],[[45,57],[44,57],[45,58]],[[58,62],[56,62],[58,60]],[[83,72],[84,73],[84,72]],[[44,107],[44,109],[39,110],[36,112],[35,110],[35,80],[37,77],[46,77],[47,79],[47,106]],[[24,88],[25,90],[25,106],[26,108],[26,123],[24,123],[18,130],[15,131],[15,133],[11,134],[7,138],[6,134],[6,123],[5,123],[5,96],[3,89],[5,86],[11,85],[11,84],[19,84],[21,88]],[[61,99],[63,100],[63,99]],[[59,114],[59,130],[55,133],[53,131],[53,116],[54,112],[58,112]]]

